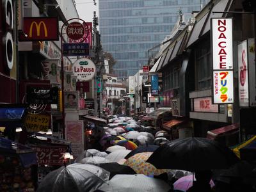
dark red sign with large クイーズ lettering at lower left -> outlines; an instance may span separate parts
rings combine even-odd
[[[36,147],[37,164],[63,165],[67,146],[40,146]]]

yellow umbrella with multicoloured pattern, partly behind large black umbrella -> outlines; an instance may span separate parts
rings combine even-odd
[[[131,156],[125,161],[124,165],[131,167],[136,173],[144,175],[161,175],[168,172],[168,170],[158,170],[154,165],[147,163],[148,157],[152,152],[143,152]]]

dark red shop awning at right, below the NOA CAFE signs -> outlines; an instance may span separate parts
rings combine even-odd
[[[214,129],[212,131],[207,131],[207,138],[214,140],[218,136],[223,136],[225,134],[230,134],[239,131],[239,127],[239,124],[232,124],[227,125],[225,127],[220,127],[218,129]]]

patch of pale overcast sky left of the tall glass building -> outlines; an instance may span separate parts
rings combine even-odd
[[[98,0],[96,0],[96,4],[93,4],[93,0],[76,0],[76,9],[79,17],[84,21],[92,22],[94,11],[96,11],[97,17],[99,17]]]

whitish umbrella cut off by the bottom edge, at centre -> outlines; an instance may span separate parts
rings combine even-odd
[[[102,191],[115,192],[166,192],[170,186],[160,179],[154,179],[145,175],[115,175],[108,184],[103,184]]]

